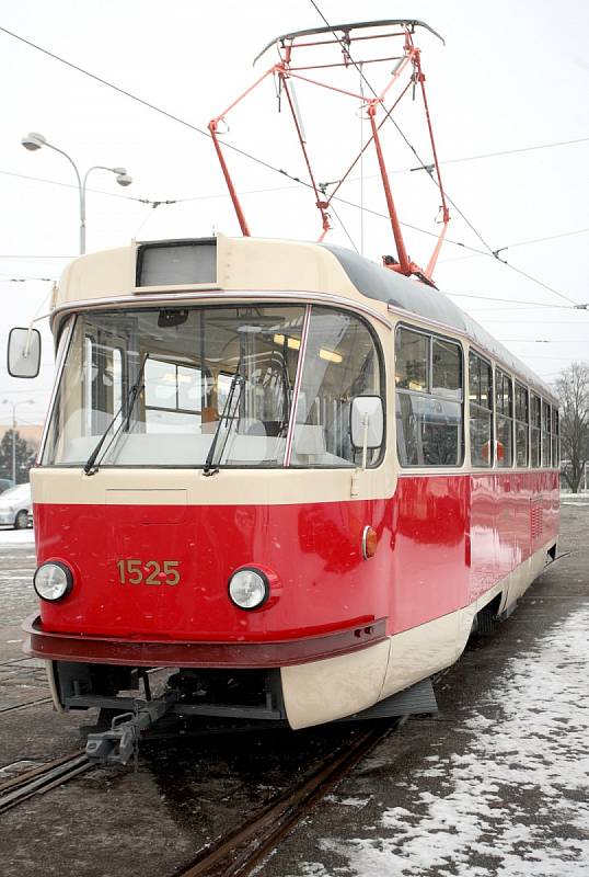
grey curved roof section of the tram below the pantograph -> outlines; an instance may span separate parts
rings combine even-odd
[[[454,305],[443,293],[432,289],[417,280],[405,277],[395,271],[378,265],[351,250],[331,244],[322,246],[335,255],[354,286],[362,295],[384,301],[393,310],[399,309],[414,314],[416,317],[432,320],[462,332],[528,384],[539,388],[545,396],[556,398],[554,390],[526,363],[513,356],[507,348]]]

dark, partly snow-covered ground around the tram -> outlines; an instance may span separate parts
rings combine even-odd
[[[278,851],[263,877],[586,877],[589,861],[589,508],[563,510],[561,551],[493,637],[441,676],[437,717],[381,743]],[[35,608],[32,534],[0,532],[0,710],[47,695],[21,653]],[[0,711],[0,782],[73,751],[92,714]],[[2,816],[3,877],[172,875],[353,733],[219,736],[146,748]]]

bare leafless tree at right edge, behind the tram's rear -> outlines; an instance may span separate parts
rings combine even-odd
[[[589,364],[573,363],[556,380],[561,399],[563,476],[573,493],[589,462]]]

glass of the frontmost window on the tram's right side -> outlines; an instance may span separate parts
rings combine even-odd
[[[396,448],[402,466],[462,464],[462,383],[459,344],[397,329]]]

